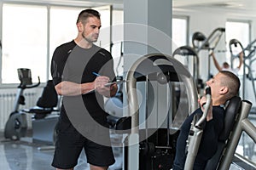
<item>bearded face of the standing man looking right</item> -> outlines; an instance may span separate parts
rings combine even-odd
[[[96,42],[99,37],[101,26],[101,20],[96,17],[89,17],[84,25],[82,36],[87,42]]]

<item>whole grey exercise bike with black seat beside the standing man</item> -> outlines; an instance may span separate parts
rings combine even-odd
[[[36,106],[20,110],[20,105],[25,105],[24,90],[38,87],[40,79],[38,77],[38,83],[33,84],[31,70],[26,68],[18,69],[18,76],[20,85],[15,98],[14,111],[11,112],[4,128],[4,137],[11,140],[20,140],[21,137],[25,137],[27,132],[26,115],[32,114],[32,141],[55,144],[55,125],[59,118],[60,100],[52,80],[46,83]]]

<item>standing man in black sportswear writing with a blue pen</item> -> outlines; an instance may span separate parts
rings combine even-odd
[[[101,28],[96,10],[81,11],[76,25],[78,36],[56,48],[51,61],[55,90],[63,96],[52,166],[72,170],[84,149],[90,170],[107,170],[114,157],[103,96],[117,91],[115,83],[105,86],[115,80],[113,59],[93,44]]]

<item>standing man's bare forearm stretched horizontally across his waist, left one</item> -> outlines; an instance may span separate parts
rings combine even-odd
[[[65,96],[75,96],[80,94],[85,94],[91,89],[94,89],[93,82],[87,82],[83,84],[75,83],[75,82],[60,82],[55,85],[55,89],[57,94],[65,95]]]

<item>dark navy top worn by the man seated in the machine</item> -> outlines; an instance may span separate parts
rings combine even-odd
[[[174,170],[183,169],[186,161],[186,144],[189,136],[189,130],[191,122],[195,114],[202,115],[201,108],[195,110],[189,117],[183,122],[180,128],[180,133],[177,138],[176,156],[173,164]],[[212,107],[213,119],[206,123],[203,134],[201,137],[201,144],[198,149],[197,156],[195,157],[195,170],[204,169],[207,160],[209,160],[216,152],[218,147],[218,136],[224,127],[224,108],[220,105]]]

